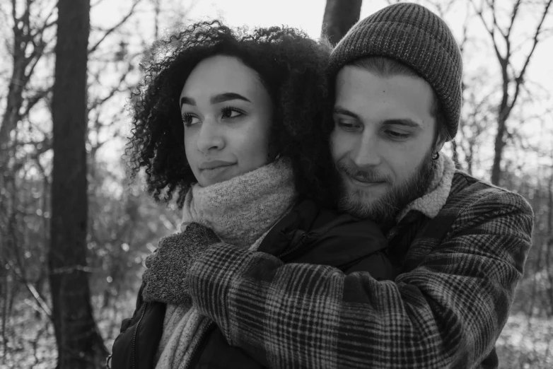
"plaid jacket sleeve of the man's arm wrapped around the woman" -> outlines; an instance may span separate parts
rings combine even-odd
[[[270,368],[472,368],[507,320],[532,210],[496,190],[458,214],[446,240],[395,281],[219,243],[192,265],[192,299]]]

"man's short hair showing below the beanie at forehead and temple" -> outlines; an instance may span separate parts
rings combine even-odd
[[[351,61],[347,64],[349,66],[356,66],[358,68],[366,69],[377,76],[383,78],[389,78],[392,76],[407,76],[407,77],[417,77],[422,78],[416,71],[414,71],[409,66],[403,64],[400,61],[397,61],[388,57],[364,57]],[[424,78],[422,78],[424,79]],[[429,85],[430,86],[430,85]],[[447,120],[446,114],[443,112],[443,107],[441,106],[440,99],[436,95],[436,91],[432,90],[432,106],[430,107],[431,115],[436,121],[435,134],[434,134],[434,144],[437,142],[446,142],[452,139],[447,129]],[[438,139],[436,141],[436,139]]]

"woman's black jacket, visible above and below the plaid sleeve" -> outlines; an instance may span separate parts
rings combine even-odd
[[[368,271],[378,280],[392,280],[399,267],[388,259],[388,242],[377,225],[347,214],[320,209],[302,201],[264,238],[259,251],[279,255],[286,263],[335,266],[346,274]],[[124,320],[113,344],[112,369],[152,369],[165,317],[165,304],[144,303],[141,291],[132,318]],[[264,368],[241,348],[229,346],[211,323],[196,348],[190,368]]]

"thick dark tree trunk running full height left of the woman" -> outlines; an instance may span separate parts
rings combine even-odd
[[[50,286],[58,369],[100,368],[106,349],[86,274],[86,78],[90,0],[59,0],[52,95]]]

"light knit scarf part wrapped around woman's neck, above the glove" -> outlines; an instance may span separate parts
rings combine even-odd
[[[225,182],[192,186],[182,208],[181,230],[200,223],[230,245],[250,247],[295,199],[291,163],[282,158]]]

